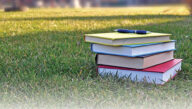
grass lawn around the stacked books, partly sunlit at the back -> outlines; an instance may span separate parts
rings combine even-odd
[[[184,6],[0,11],[1,108],[192,108],[192,17]],[[96,75],[86,33],[171,33],[182,71],[156,86]]]

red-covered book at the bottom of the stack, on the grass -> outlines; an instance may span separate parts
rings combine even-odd
[[[126,77],[130,78],[132,81],[163,85],[170,79],[174,78],[178,71],[181,70],[181,62],[182,59],[173,59],[146,69],[131,69],[99,65],[98,73],[101,76],[112,75],[119,78]]]

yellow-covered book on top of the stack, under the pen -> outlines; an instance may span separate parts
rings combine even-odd
[[[134,34],[134,33],[98,33],[85,34],[85,42],[97,43],[102,45],[133,45],[154,42],[166,42],[170,40],[171,34],[165,33],[149,33],[149,34]]]

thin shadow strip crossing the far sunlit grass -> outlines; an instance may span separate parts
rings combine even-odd
[[[35,20],[117,20],[117,19],[157,19],[157,18],[186,18],[187,15],[117,15],[117,16],[64,16],[64,17],[26,17],[8,18],[0,21],[35,21]]]

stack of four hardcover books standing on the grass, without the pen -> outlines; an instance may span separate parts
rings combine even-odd
[[[137,82],[164,84],[181,70],[174,59],[175,41],[165,33],[86,34],[96,55],[98,73],[127,77]]]

